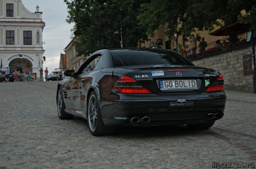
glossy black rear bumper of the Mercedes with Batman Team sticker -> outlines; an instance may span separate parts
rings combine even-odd
[[[224,92],[179,97],[163,96],[161,100],[154,98],[101,101],[103,122],[105,125],[157,126],[204,123],[207,120],[219,120],[224,116]],[[181,102],[177,102],[179,99]],[[150,121],[143,122],[144,117],[149,117]],[[136,122],[133,122],[132,118],[137,118]]]

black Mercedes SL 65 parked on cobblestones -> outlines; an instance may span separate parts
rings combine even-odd
[[[65,75],[57,87],[58,117],[88,119],[93,135],[118,125],[209,128],[224,116],[223,76],[172,50],[99,50]]]

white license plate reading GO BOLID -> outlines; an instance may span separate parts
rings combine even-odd
[[[188,90],[197,89],[197,80],[160,80],[160,90]]]

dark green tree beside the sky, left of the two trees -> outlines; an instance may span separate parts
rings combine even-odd
[[[104,48],[137,47],[147,39],[146,27],[137,16],[140,3],[135,0],[64,0],[68,6],[67,22],[74,22],[77,55],[90,55]],[[140,1],[145,3],[145,1]],[[122,31],[121,31],[122,27]]]

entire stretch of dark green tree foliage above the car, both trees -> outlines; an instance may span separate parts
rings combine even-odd
[[[240,19],[255,26],[256,0],[63,0],[68,6],[67,22],[74,22],[74,42],[78,56],[98,49],[137,47],[147,35],[154,36],[167,24],[166,36],[173,39],[179,29],[183,37],[194,32],[213,31],[220,21],[229,24]],[[246,15],[242,16],[241,11]],[[122,27],[122,31],[121,31]]]

